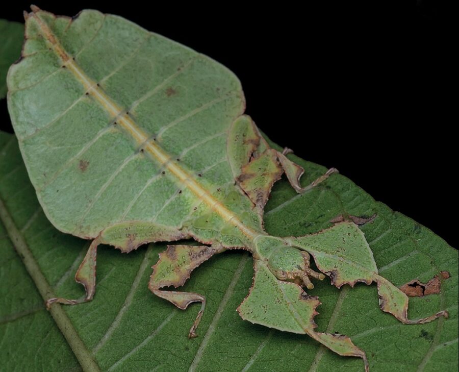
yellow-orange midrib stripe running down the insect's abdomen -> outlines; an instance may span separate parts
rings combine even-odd
[[[197,182],[192,175],[175,163],[172,160],[172,157],[169,156],[157,143],[152,142],[151,139],[149,139],[149,136],[137,126],[131,116],[129,116],[129,114],[119,107],[114,101],[112,101],[111,98],[98,86],[98,84],[92,81],[83,69],[75,63],[74,59],[67,54],[62,45],[57,41],[47,24],[43,22],[36,13],[33,13],[32,16],[37,21],[44,38],[52,45],[54,52],[56,52],[56,54],[62,59],[63,65],[73,73],[75,78],[81,82],[86,91],[95,98],[95,100],[112,116],[112,118],[116,118],[116,122],[119,126],[123,128],[126,133],[131,135],[138,145],[144,145],[144,152],[147,152],[160,164],[160,166],[169,170],[181,184],[185,184],[199,200],[206,203],[225,221],[231,221],[231,224],[239,228],[245,236],[253,239],[254,237],[260,235],[260,232],[254,231],[245,226],[235,213],[228,210],[223,204],[216,200],[206,188],[202,187],[199,182]]]

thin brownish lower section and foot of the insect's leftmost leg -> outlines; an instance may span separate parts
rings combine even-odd
[[[63,299],[62,297],[54,297],[46,301],[46,308],[58,302],[63,305],[76,305],[83,302],[91,301],[95,293],[95,283],[96,283],[96,257],[97,257],[97,245],[99,244],[99,239],[96,238],[92,241],[89,246],[88,252],[86,253],[85,258],[80,264],[80,267],[75,274],[75,281],[82,284],[85,287],[86,296],[82,300],[68,300]]]

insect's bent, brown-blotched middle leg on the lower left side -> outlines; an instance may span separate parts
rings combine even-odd
[[[167,250],[160,253],[160,259],[152,267],[153,273],[148,283],[151,292],[182,310],[185,310],[193,302],[201,303],[201,309],[188,334],[189,338],[197,336],[196,328],[206,307],[206,297],[193,292],[168,291],[160,288],[169,286],[177,288],[184,285],[190,278],[193,269],[214,254],[224,250],[222,246],[168,245]]]

